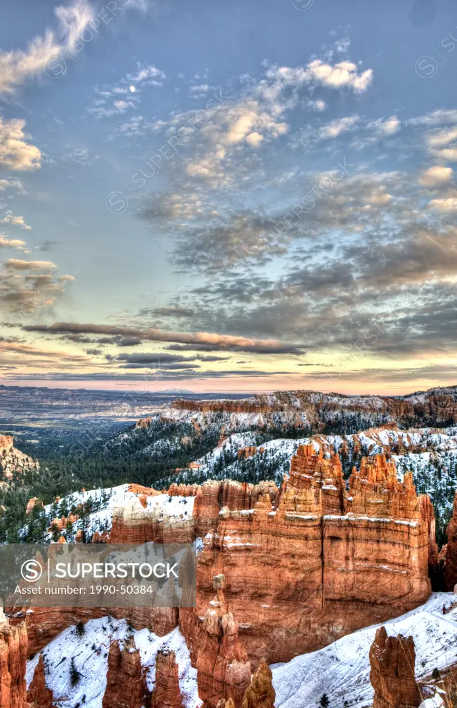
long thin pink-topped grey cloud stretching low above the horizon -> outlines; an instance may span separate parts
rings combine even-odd
[[[161,342],[179,342],[187,344],[207,344],[213,349],[232,351],[255,351],[260,353],[297,353],[301,348],[277,340],[255,340],[241,336],[216,334],[209,332],[168,332],[159,329],[138,329],[134,327],[118,327],[104,324],[76,324],[74,322],[55,322],[46,325],[27,325],[25,331],[43,332],[47,334],[83,333],[137,336],[143,340]]]

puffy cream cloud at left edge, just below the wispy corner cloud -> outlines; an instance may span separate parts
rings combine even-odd
[[[0,166],[29,171],[40,168],[41,152],[27,142],[25,120],[6,120],[0,115]]]

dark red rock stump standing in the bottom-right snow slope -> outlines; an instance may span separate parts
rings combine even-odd
[[[422,698],[415,679],[415,658],[412,636],[388,636],[386,628],[379,627],[370,649],[373,708],[419,706]]]

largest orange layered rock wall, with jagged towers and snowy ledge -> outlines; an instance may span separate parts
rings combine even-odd
[[[199,554],[195,617],[212,598],[213,576],[224,573],[227,606],[257,664],[289,661],[401,615],[431,589],[422,506],[410,476],[398,481],[383,455],[362,461],[345,491],[337,455],[301,447],[277,507],[264,493],[254,508],[221,508]],[[182,610],[180,624],[195,642],[198,619]]]

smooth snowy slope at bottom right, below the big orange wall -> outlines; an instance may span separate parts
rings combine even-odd
[[[453,593],[433,593],[424,605],[383,622],[390,636],[413,637],[417,680],[430,675],[434,668],[443,669],[457,661],[457,608],[442,614],[443,605],[449,607],[456,601]],[[374,692],[369,676],[369,651],[380,626],[361,629],[320,651],[272,666],[276,708],[316,706],[323,693],[327,694],[330,706],[340,707],[345,701],[350,708],[371,706]],[[433,705],[426,704],[427,708]]]

